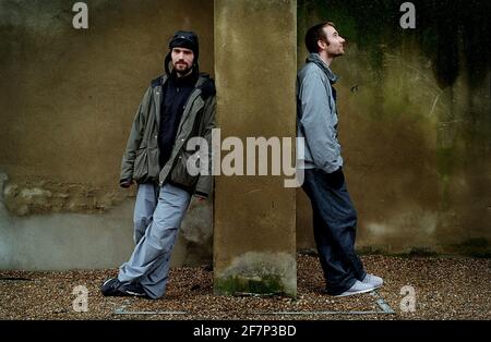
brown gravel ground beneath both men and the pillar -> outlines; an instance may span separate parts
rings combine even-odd
[[[362,256],[369,272],[384,278],[375,294],[333,298],[322,293],[315,256],[298,256],[298,297],[213,295],[213,272],[205,267],[172,269],[164,298],[103,297],[100,283],[116,269],[96,271],[0,271],[0,319],[491,319],[491,259]],[[76,313],[73,288],[88,290],[88,310]],[[415,310],[400,308],[415,289]],[[394,314],[381,314],[382,297]],[[115,310],[159,312],[120,315]],[[272,313],[297,313],[296,315]],[[331,312],[378,312],[328,314]],[[184,314],[179,314],[184,313]],[[301,314],[298,314],[301,313]]]

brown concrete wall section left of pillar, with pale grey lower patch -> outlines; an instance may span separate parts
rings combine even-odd
[[[213,74],[213,1],[0,2],[0,268],[116,267],[132,249],[135,190],[118,187],[141,97],[176,29]],[[212,204],[192,203],[173,265],[212,258]]]

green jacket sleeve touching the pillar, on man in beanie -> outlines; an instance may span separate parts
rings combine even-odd
[[[215,112],[216,112],[216,97],[211,96],[205,103],[203,111],[203,137],[208,144],[208,151],[206,158],[208,159],[208,174],[200,174],[197,179],[195,194],[204,197],[208,197],[213,191],[213,149],[212,149],[212,130],[215,127]]]

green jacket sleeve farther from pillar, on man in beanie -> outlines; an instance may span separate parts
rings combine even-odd
[[[119,181],[132,180],[134,159],[136,157],[136,150],[140,148],[140,144],[143,138],[143,132],[145,130],[146,118],[148,117],[149,101],[151,101],[152,87],[145,91],[142,102],[139,106],[136,114],[133,119],[133,125],[131,126],[130,136],[127,142],[127,149],[124,150],[121,162],[121,174]]]

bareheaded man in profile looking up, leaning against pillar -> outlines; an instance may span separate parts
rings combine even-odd
[[[346,187],[337,138],[337,76],[333,60],[345,53],[345,39],[331,22],[306,34],[310,54],[297,78],[298,136],[304,137],[303,190],[313,211],[314,239],[326,281],[326,293],[346,296],[380,288],[355,252],[357,212]]]

